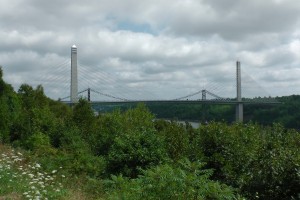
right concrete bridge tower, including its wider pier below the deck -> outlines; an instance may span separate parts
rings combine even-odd
[[[236,122],[243,122],[243,103],[242,103],[242,79],[241,79],[241,63],[236,62]]]

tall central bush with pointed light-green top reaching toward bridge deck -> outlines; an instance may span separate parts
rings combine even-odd
[[[111,142],[106,143],[110,173],[136,177],[139,168],[145,169],[167,159],[164,143],[154,129],[153,115],[144,105],[124,114],[113,114],[116,115],[119,115],[116,121],[120,120],[116,124],[118,128],[106,133],[110,135],[108,141]]]

